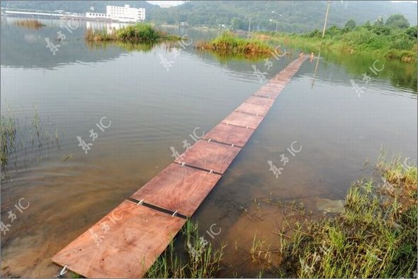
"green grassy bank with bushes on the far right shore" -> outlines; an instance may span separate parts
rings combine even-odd
[[[397,20],[395,23],[393,23],[395,19],[391,20],[394,17]],[[400,15],[390,16],[386,23],[380,18],[374,25],[366,22],[362,26],[356,26],[356,23],[350,20],[344,28],[337,26],[328,28],[323,38],[322,32],[317,29],[305,34],[257,32],[253,36],[259,40],[330,48],[349,54],[379,55],[388,60],[401,62],[416,62],[418,28],[409,27],[407,21],[403,24],[400,22],[403,22]]]

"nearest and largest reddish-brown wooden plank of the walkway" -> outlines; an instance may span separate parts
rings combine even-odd
[[[185,222],[124,201],[52,261],[88,278],[141,278]]]

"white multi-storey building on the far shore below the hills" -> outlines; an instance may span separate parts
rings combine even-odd
[[[106,13],[86,13],[86,18],[102,18],[120,22],[137,22],[145,20],[145,9],[125,6],[106,6]]]

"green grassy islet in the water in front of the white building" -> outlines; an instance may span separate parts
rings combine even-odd
[[[91,42],[156,43],[158,40],[180,40],[179,37],[157,31],[149,24],[136,23],[108,32],[106,29],[95,31],[87,29],[84,38]]]

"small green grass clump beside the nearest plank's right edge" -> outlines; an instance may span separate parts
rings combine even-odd
[[[198,224],[187,221],[181,231],[184,249],[176,254],[174,242],[149,268],[147,278],[215,278],[219,275],[223,247],[213,249],[210,242],[198,234]]]

